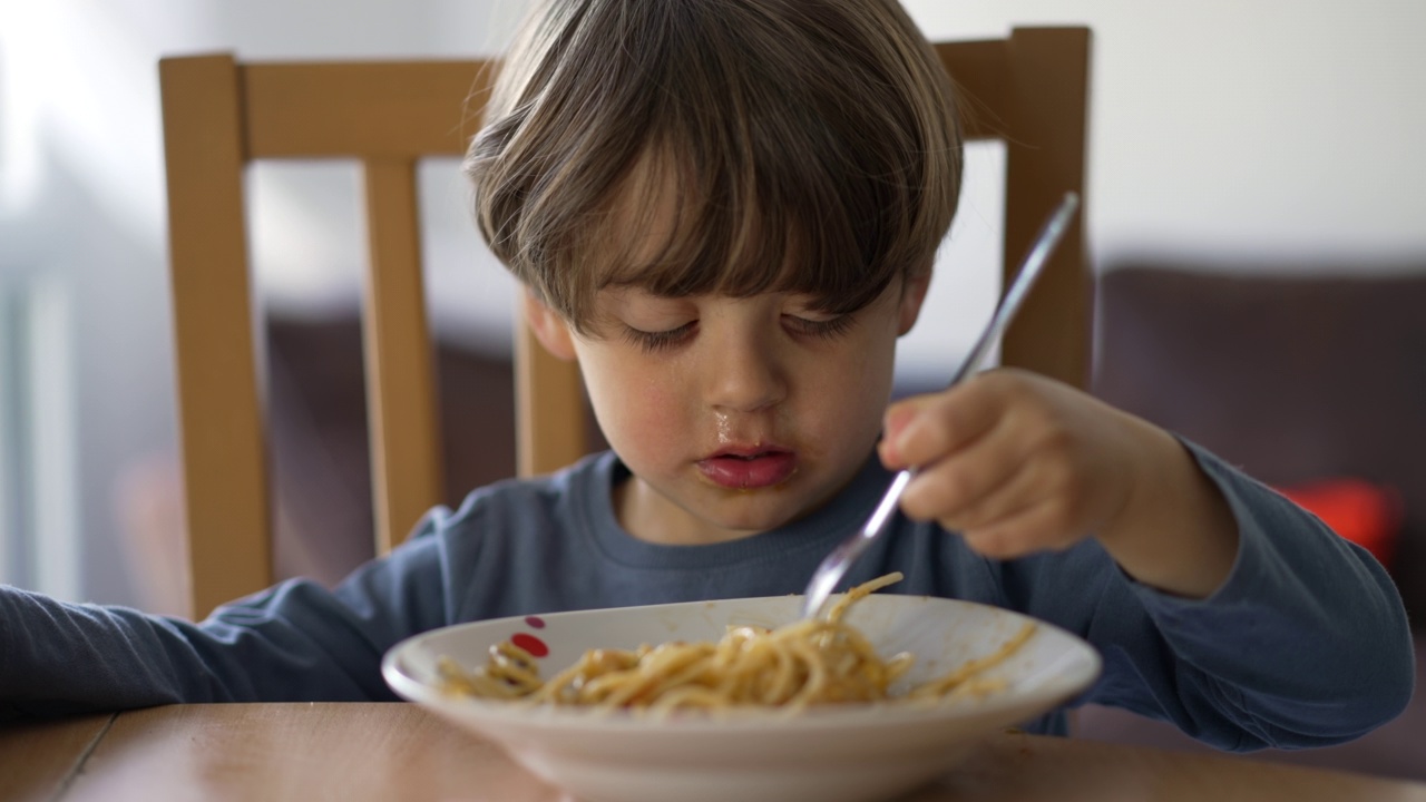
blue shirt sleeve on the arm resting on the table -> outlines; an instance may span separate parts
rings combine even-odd
[[[445,622],[442,518],[335,589],[288,581],[200,624],[0,587],[0,716],[394,699],[382,655]]]

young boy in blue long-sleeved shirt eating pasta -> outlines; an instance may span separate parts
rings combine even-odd
[[[955,211],[951,110],[893,0],[543,4],[466,171],[612,452],[198,625],[0,589],[0,704],[391,699],[382,654],[435,626],[800,592],[921,465],[847,584],[900,569],[1064,626],[1104,655],[1088,701],[1224,748],[1395,716],[1413,666],[1380,567],[1211,454],[1010,370],[886,410]]]

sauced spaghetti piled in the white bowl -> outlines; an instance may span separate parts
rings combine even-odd
[[[841,619],[858,599],[900,579],[896,572],[857,585],[824,619],[801,619],[776,629],[730,626],[717,642],[589,649],[548,682],[540,679],[535,658],[509,641],[491,646],[486,665],[471,672],[442,658],[441,679],[446,692],[461,696],[653,714],[729,706],[799,711],[809,705],[886,701],[893,698],[891,684],[915,658],[901,652],[883,661],[870,641]],[[995,689],[994,682],[974,678],[1008,659],[1034,628],[1027,624],[994,654],[913,688],[904,698],[943,699]]]

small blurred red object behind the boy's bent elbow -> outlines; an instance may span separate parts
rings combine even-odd
[[[1402,497],[1396,488],[1345,478],[1279,487],[1278,492],[1372,552],[1383,567],[1392,567],[1402,529]]]

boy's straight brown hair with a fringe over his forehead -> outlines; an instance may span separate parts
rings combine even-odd
[[[576,331],[623,284],[854,311],[930,270],[960,194],[950,80],[896,0],[545,0],[485,118],[481,233]]]

